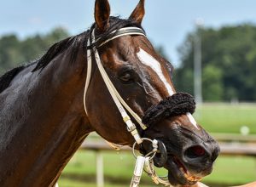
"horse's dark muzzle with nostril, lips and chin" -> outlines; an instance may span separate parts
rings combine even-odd
[[[179,144],[173,151],[166,144],[166,165],[168,179],[171,184],[195,184],[201,178],[212,173],[213,162],[218,157],[219,146],[214,139],[208,136],[206,141],[200,137],[193,139],[183,138],[186,144]]]

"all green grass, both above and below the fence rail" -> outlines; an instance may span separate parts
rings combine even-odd
[[[210,133],[240,133],[242,126],[256,133],[256,104],[206,104],[197,107],[195,119]],[[79,150],[63,171],[61,187],[96,187],[96,153]],[[103,152],[105,186],[128,186],[135,160],[128,152]],[[247,184],[256,180],[253,157],[219,156],[213,172],[203,182],[214,186]],[[145,174],[142,187],[155,186]]]

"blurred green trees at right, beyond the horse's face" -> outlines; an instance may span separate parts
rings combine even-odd
[[[201,35],[204,101],[256,100],[256,26],[199,28],[178,48],[177,90],[194,94],[194,38]]]

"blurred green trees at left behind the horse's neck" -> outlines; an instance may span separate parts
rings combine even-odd
[[[55,28],[46,35],[35,35],[20,40],[15,34],[0,37],[0,75],[30,60],[38,59],[57,41],[68,37],[68,32]]]

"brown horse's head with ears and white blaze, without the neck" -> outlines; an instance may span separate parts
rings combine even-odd
[[[93,63],[91,77],[87,77],[90,82],[86,81],[85,110],[91,126],[104,139],[132,146],[135,140],[126,130],[96,65],[100,61],[115,91],[147,127],[143,129],[131,116],[138,134],[158,140],[155,166],[168,170],[171,184],[195,184],[212,172],[219,147],[195,122],[194,98],[175,91],[171,63],[157,54],[145,37],[141,26],[144,13],[144,0],[140,0],[130,18],[121,20],[110,16],[108,0],[96,0],[96,24],[90,30],[88,42],[88,58]],[[143,141],[137,149],[147,153],[152,145]]]

